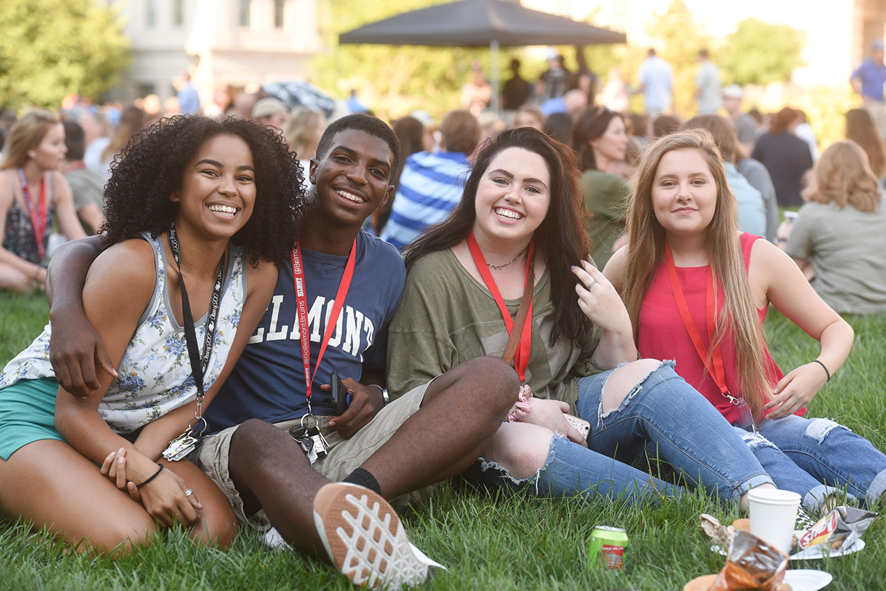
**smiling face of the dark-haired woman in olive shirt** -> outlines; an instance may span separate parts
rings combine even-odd
[[[480,177],[474,234],[488,241],[532,237],[548,214],[550,185],[548,163],[539,154],[502,150]]]

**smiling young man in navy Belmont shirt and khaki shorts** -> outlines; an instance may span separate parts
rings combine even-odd
[[[437,564],[409,544],[382,497],[408,494],[467,468],[506,416],[518,388],[514,370],[487,357],[386,403],[387,324],[400,301],[405,269],[391,245],[361,227],[391,197],[390,178],[399,159],[396,136],[374,117],[349,115],[327,128],[311,159],[311,206],[299,230],[299,252],[293,253],[292,267],[279,270],[258,329],[207,409],[215,432],[191,458],[228,495],[241,521],[260,529],[273,526],[306,552],[323,544],[333,563],[358,584],[394,587],[421,582]],[[64,251],[52,282],[75,286],[75,275],[96,254],[97,245]],[[353,269],[347,272],[351,258]],[[335,299],[345,287],[337,307]],[[56,297],[54,308],[54,316],[82,315],[77,302],[67,298]],[[305,318],[299,309],[307,312]],[[86,342],[93,337],[84,322],[77,317],[57,328],[64,345],[54,354],[74,357],[82,366],[65,375],[91,378],[91,351],[102,346]],[[66,337],[74,334],[78,337]],[[307,364],[302,334],[309,341]],[[72,350],[90,354],[72,355]],[[350,395],[340,416],[331,405],[332,371],[344,378]],[[306,380],[306,374],[313,379]],[[64,386],[87,393],[89,382],[71,378]],[[308,384],[311,417],[306,418]],[[312,452],[321,445],[329,449],[311,470],[289,431],[312,426],[313,417],[323,438],[315,437]],[[330,484],[338,480],[365,488]],[[371,523],[363,515],[372,517]],[[377,552],[370,553],[364,543]]]

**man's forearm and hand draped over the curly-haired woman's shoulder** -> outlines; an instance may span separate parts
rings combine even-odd
[[[99,237],[58,247],[46,276],[50,302],[50,362],[58,383],[74,396],[89,396],[99,387],[96,368],[117,376],[105,344],[83,311],[83,286],[89,266],[102,252]]]

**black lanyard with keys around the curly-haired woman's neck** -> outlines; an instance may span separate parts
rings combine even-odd
[[[190,299],[188,299],[187,290],[184,289],[184,276],[182,275],[178,237],[175,234],[175,223],[169,225],[168,239],[169,250],[172,251],[175,267],[178,268],[178,283],[182,290],[184,340],[188,345],[190,371],[194,377],[194,385],[197,386],[197,408],[194,410],[194,416],[190,419],[188,428],[181,435],[170,441],[167,449],[163,452],[163,456],[166,457],[167,460],[177,461],[186,457],[191,451],[193,451],[199,439],[202,438],[203,432],[206,431],[206,419],[203,418],[203,377],[206,375],[206,369],[209,367],[209,356],[212,354],[213,350],[215,328],[218,322],[219,307],[221,306],[221,283],[224,281],[224,256],[222,256],[221,261],[219,261],[219,270],[215,276],[213,297],[210,300],[209,312],[206,315],[206,330],[203,335],[203,354],[201,355],[197,348],[197,330],[194,329],[194,317],[190,312]],[[193,435],[192,433],[197,430],[198,432],[196,436]]]

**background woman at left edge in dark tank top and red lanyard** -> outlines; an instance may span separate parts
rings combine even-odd
[[[53,220],[68,239],[86,236],[58,172],[66,152],[65,129],[51,111],[25,113],[10,130],[0,161],[0,289],[45,283]]]

